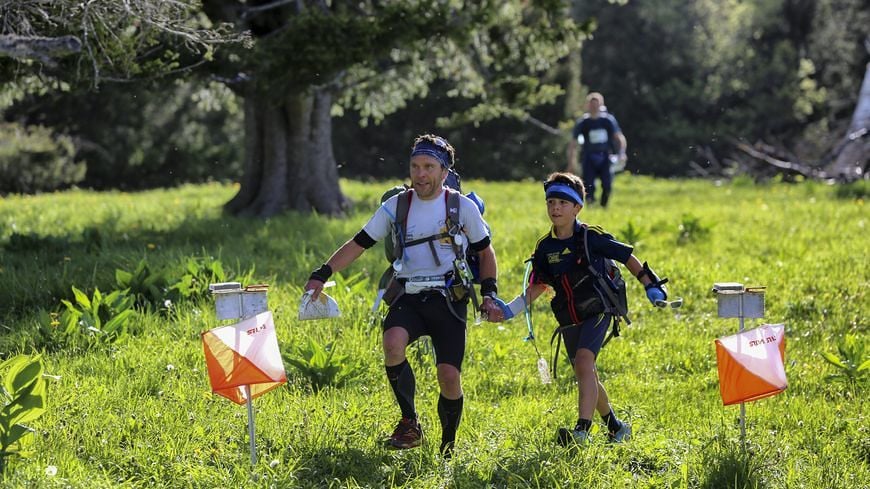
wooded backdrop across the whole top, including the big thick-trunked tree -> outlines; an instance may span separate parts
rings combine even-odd
[[[3,137],[30,135],[0,166],[45,162],[37,189],[241,178],[232,211],[335,213],[339,175],[400,177],[432,131],[466,176],[541,178],[589,90],[634,172],[739,169],[738,143],[821,167],[868,140],[864,0],[22,0],[0,18]]]

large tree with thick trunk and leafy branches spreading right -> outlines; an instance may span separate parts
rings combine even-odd
[[[250,30],[222,59],[246,104],[246,169],[232,212],[341,212],[332,116],[380,121],[440,80],[472,101],[454,124],[524,117],[561,93],[541,82],[579,31],[558,1],[236,2],[215,20]]]

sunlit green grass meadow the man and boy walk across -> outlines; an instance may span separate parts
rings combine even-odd
[[[814,183],[755,186],[621,176],[613,205],[581,219],[639,242],[636,254],[670,278],[678,312],[652,308],[629,281],[634,324],[601,353],[599,372],[617,413],[634,426],[622,446],[565,450],[559,426],[576,419],[577,389],[563,359],[557,381],[537,379],[521,319],[470,322],[463,368],[466,409],[453,460],[437,455],[437,381],[431,353],[409,349],[417,406],[430,435],[391,452],[397,420],[370,313],[385,262],[363,255],[331,289],[335,320],[296,320],[308,273],[368,219],[395,182],[343,181],[356,202],[346,219],[286,214],[225,217],[235,189],[187,186],[136,194],[70,191],[0,200],[0,360],[45,354],[48,410],[32,423],[26,457],[9,461],[4,487],[870,487],[867,376],[829,378],[847,334],[867,343],[870,213],[863,194]],[[523,260],[548,229],[539,183],[470,181],[486,199],[505,299],[520,291]],[[706,230],[706,233],[704,232]],[[255,401],[259,463],[251,470],[246,412],[212,395],[200,332],[220,324],[211,301],[137,318],[125,341],[91,349],[52,345],[37,311],[56,311],[76,286],[115,287],[115,269],[180,267],[210,256],[271,284],[286,354],[309,338],[335,341],[361,371],[340,387],[290,381]],[[352,277],[354,276],[355,277]],[[786,324],[789,388],[747,404],[748,453],[736,406],[718,392],[715,338],[737,329],[716,316],[715,282],[767,286],[766,322]],[[544,298],[542,298],[544,299]],[[538,347],[554,327],[535,304]],[[747,327],[760,321],[747,321]],[[860,351],[870,351],[865,348]],[[866,360],[857,360],[858,363]],[[48,467],[56,467],[53,476]],[[252,475],[253,473],[253,475]]]

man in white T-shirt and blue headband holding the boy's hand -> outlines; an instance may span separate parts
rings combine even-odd
[[[480,292],[484,297],[481,310],[488,315],[498,307],[493,303],[497,264],[486,222],[472,200],[444,187],[454,162],[455,151],[446,140],[431,134],[419,136],[411,151],[411,189],[387,199],[362,230],[315,270],[305,285],[316,299],[333,273],[349,266],[377,241],[396,234],[396,274],[384,294],[390,307],[383,322],[383,347],[387,379],[402,419],[388,442],[397,449],[422,443],[423,430],[414,407],[416,382],[405,350],[417,338],[428,335],[435,349],[441,392],[438,417],[441,453],[445,457],[452,452],[462,416],[460,372],[465,356],[466,307],[474,291],[457,292],[465,270],[457,267],[464,266],[467,246],[480,257]],[[406,199],[401,207],[400,199]],[[458,206],[451,207],[450,202]],[[457,213],[458,222],[457,216],[451,215]]]

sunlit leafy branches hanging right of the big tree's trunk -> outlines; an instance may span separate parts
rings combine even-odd
[[[382,12],[379,25],[392,44],[375,39],[373,52],[393,49],[350,66],[341,105],[357,111],[365,125],[425,96],[431,85],[443,85],[448,100],[456,101],[446,113],[439,102],[444,115],[437,123],[457,127],[502,117],[525,121],[532,108],[554,103],[563,91],[545,79],[584,35],[561,3],[457,4],[461,8],[407,2],[396,7],[406,11]],[[401,32],[392,28],[393,16],[403,19]]]

